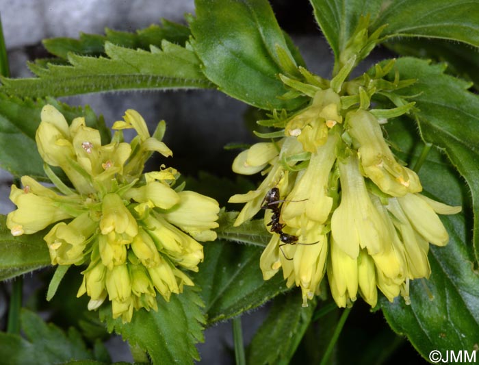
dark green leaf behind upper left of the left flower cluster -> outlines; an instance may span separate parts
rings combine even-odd
[[[31,101],[0,93],[0,167],[12,175],[46,179],[35,134],[40,124],[40,112],[47,103],[60,110],[68,122],[77,116],[84,116],[86,125],[99,129],[104,143],[109,141],[109,130],[103,116],[96,117],[88,105],[84,109],[73,108],[51,98]]]

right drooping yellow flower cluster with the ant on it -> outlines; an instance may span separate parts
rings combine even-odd
[[[283,268],[303,305],[324,275],[339,307],[358,292],[374,306],[377,288],[408,303],[409,280],[430,275],[429,244],[448,242],[437,213],[461,210],[419,194],[419,178],[396,160],[374,114],[342,108],[331,89],[287,119],[281,140],[239,153],[233,171],[266,175],[257,190],[231,197],[246,203],[235,225],[266,208],[272,238],[261,255],[263,277]],[[276,201],[268,200],[272,189]]]

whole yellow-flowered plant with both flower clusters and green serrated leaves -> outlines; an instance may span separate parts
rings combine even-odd
[[[387,329],[337,341],[353,336],[350,311],[365,308],[426,360],[475,356],[479,3],[310,2],[331,75],[309,70],[268,1],[197,0],[187,25],[45,40],[55,59],[29,64],[36,77],[1,79],[0,162],[16,178],[16,209],[0,221],[1,277],[52,265],[51,303],[73,283],[70,297],[88,297],[61,351],[42,353],[29,333],[55,341],[58,329],[23,310],[29,339],[1,333],[12,343],[3,358],[20,364],[36,346],[47,362],[109,362],[90,318],[128,340],[136,361],[191,363],[203,329],[235,318],[239,364],[350,362],[352,349],[359,363],[386,359],[401,344]],[[358,71],[378,45],[398,57]],[[150,134],[129,109],[111,136],[90,108],[53,99],[185,88],[257,110],[259,140],[232,161],[255,187],[218,184],[231,190],[226,209],[215,200],[224,191],[205,188],[215,178],[170,166],[164,121]],[[126,142],[123,129],[136,136]],[[146,171],[155,152],[161,162]],[[245,351],[239,315],[271,299]]]

